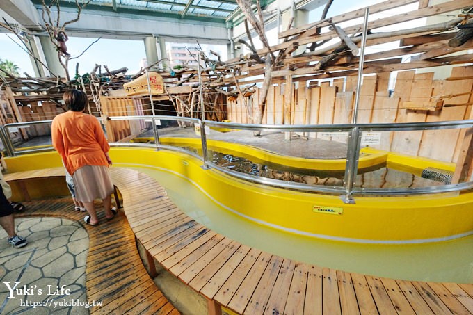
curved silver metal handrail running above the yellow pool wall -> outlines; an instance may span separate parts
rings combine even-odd
[[[104,121],[103,118],[97,118]],[[457,120],[444,122],[405,122],[405,123],[389,123],[389,124],[321,124],[321,125],[273,125],[273,124],[238,124],[234,122],[214,122],[211,120],[199,120],[198,118],[185,118],[167,115],[141,115],[141,116],[114,116],[106,117],[106,120],[151,120],[154,131],[154,145],[145,143],[110,143],[111,146],[122,147],[154,147],[157,150],[166,149],[176,152],[182,152],[194,156],[203,162],[202,168],[216,169],[232,177],[237,177],[244,181],[252,181],[259,184],[269,186],[278,186],[280,188],[287,188],[299,191],[311,191],[319,193],[330,193],[334,195],[341,195],[344,202],[353,203],[353,195],[414,195],[426,193],[450,193],[470,190],[473,188],[473,181],[460,184],[446,184],[435,187],[419,187],[419,188],[357,188],[355,187],[356,175],[358,172],[358,160],[360,154],[360,143],[362,133],[365,131],[415,131],[415,130],[439,130],[439,129],[460,129],[472,128],[473,120]],[[163,145],[159,143],[159,131],[156,127],[157,120],[174,120],[182,122],[190,122],[195,126],[200,127],[200,139],[202,145],[202,156],[195,154],[189,150],[175,147],[172,145]],[[3,142],[8,156],[15,156],[17,154],[26,154],[31,152],[43,152],[49,150],[48,148],[36,148],[15,150],[12,140],[10,138],[9,129],[13,127],[24,127],[33,124],[51,123],[52,120],[42,120],[37,122],[17,122],[0,126],[0,139]],[[344,186],[321,186],[294,183],[289,181],[280,181],[278,179],[268,179],[265,177],[258,177],[255,175],[244,174],[223,168],[207,159],[207,134],[206,127],[221,127],[227,129],[239,129],[250,131],[281,131],[281,132],[344,132],[348,136],[347,154],[346,154],[346,170],[344,176]],[[52,147],[52,145],[51,145]]]

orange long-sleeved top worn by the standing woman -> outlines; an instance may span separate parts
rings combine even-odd
[[[53,146],[61,154],[70,175],[85,165],[108,166],[109,152],[104,131],[93,115],[67,111],[57,115],[51,126]]]

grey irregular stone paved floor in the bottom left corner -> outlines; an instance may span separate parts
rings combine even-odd
[[[17,218],[15,225],[29,244],[11,247],[0,229],[0,314],[88,314],[86,230],[63,218]],[[5,282],[19,282],[11,298]]]

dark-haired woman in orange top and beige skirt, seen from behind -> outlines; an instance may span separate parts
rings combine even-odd
[[[53,146],[61,154],[67,172],[74,179],[77,200],[83,202],[88,211],[89,215],[84,220],[90,225],[97,225],[99,219],[95,199],[102,199],[107,220],[117,213],[111,208],[113,184],[109,172],[109,165],[112,165],[109,143],[97,118],[83,113],[88,103],[84,92],[67,90],[63,98],[69,111],[53,120]]]

